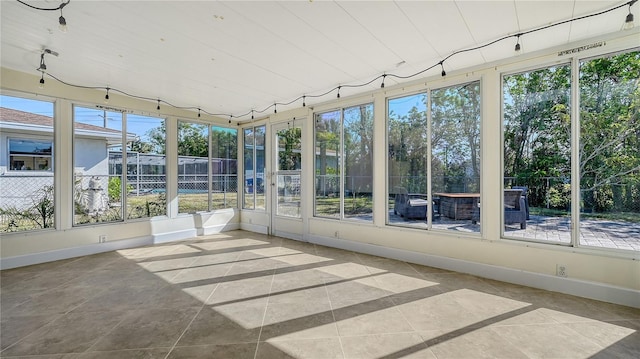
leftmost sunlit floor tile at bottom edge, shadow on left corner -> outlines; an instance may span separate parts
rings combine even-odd
[[[260,359],[340,359],[344,358],[338,338],[260,342]]]

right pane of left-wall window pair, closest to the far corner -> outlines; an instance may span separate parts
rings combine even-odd
[[[211,209],[238,207],[238,130],[212,127]]]

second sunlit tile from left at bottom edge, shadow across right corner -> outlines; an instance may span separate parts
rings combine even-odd
[[[375,334],[341,337],[345,358],[436,359],[417,333]]]

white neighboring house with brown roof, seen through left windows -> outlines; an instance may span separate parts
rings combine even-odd
[[[122,143],[122,132],[84,123],[74,132],[76,178],[86,189],[97,176],[107,188],[108,148]],[[52,186],[54,156],[52,117],[0,107],[0,208],[26,208]]]

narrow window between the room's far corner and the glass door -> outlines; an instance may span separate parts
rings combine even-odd
[[[265,126],[244,129],[244,209],[265,210],[265,135]]]

